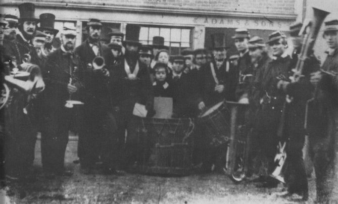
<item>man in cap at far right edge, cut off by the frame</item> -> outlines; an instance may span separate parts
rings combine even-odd
[[[310,155],[316,172],[317,202],[330,203],[332,190],[337,184],[335,176],[336,121],[337,121],[337,75],[338,72],[338,20],[325,22],[323,38],[328,49],[321,69],[311,73],[310,81],[318,89],[313,105],[309,106],[307,131]],[[310,111],[313,112],[310,114]]]

